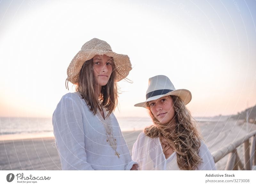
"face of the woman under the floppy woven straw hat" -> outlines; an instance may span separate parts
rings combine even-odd
[[[95,84],[104,86],[108,83],[110,75],[112,73],[112,57],[96,55],[92,58],[93,60],[93,75]]]

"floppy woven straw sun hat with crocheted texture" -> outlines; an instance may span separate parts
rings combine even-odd
[[[79,72],[85,61],[92,59],[96,55],[107,55],[113,57],[116,66],[116,81],[126,78],[132,70],[130,58],[127,55],[117,54],[112,51],[110,45],[106,41],[93,38],[82,46],[81,50],[76,54],[68,66],[67,80],[73,84],[78,81]]]

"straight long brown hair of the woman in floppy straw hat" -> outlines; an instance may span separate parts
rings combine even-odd
[[[115,110],[118,98],[116,67],[114,59],[112,59],[112,62],[112,73],[110,75],[108,83],[105,86],[101,87],[99,95],[99,100],[102,101],[101,106],[105,107],[106,110],[109,111],[107,116],[109,116]],[[95,78],[93,75],[93,69],[93,60],[90,59],[88,61],[85,61],[79,72],[76,91],[81,94],[82,98],[85,100],[90,110],[92,110],[93,113],[96,114],[97,109],[101,110],[101,108],[98,104],[99,100],[96,99],[94,96],[93,85],[95,82]]]

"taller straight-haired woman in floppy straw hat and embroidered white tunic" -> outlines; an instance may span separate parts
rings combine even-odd
[[[132,69],[127,55],[106,41],[86,42],[68,66],[67,80],[76,92],[65,94],[52,116],[62,170],[134,170],[113,114],[117,82]]]

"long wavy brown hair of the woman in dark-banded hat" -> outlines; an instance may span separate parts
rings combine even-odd
[[[150,138],[164,137],[172,149],[177,153],[177,163],[181,170],[195,170],[197,165],[202,163],[199,157],[201,136],[192,122],[192,117],[184,102],[178,96],[171,95],[174,107],[174,120],[167,124],[160,123],[150,110],[149,115],[154,125],[144,129],[145,135]],[[173,130],[173,123],[175,129]]]

